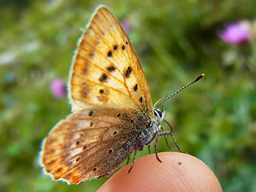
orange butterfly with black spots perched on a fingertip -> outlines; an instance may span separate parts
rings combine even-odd
[[[42,167],[55,180],[78,184],[108,176],[133,151],[135,157],[170,134],[160,132],[165,111],[153,107],[137,54],[105,6],[98,7],[78,44],[69,97],[72,114],[42,142]]]

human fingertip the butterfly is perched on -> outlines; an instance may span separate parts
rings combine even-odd
[[[149,154],[123,167],[98,192],[106,191],[222,191],[218,178],[200,159],[177,152]]]

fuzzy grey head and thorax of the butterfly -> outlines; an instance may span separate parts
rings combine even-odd
[[[165,116],[164,110],[154,109],[154,119],[151,119],[150,126],[142,131],[142,146],[150,144],[155,138],[155,134],[159,131],[158,124],[162,122]]]

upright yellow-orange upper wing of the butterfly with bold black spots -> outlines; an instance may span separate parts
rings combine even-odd
[[[142,66],[118,20],[96,10],[79,42],[70,74],[72,110],[90,106],[129,107],[153,115]]]

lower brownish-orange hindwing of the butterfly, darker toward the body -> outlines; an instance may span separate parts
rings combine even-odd
[[[70,184],[112,174],[134,150],[148,122],[134,109],[98,106],[75,112],[46,138],[42,165],[54,179]]]

